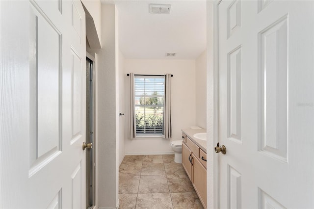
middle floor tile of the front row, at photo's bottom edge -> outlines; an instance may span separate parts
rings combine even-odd
[[[137,194],[136,209],[173,209],[170,193]]]

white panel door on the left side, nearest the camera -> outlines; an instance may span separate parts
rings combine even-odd
[[[85,207],[85,13],[0,1],[0,208]]]

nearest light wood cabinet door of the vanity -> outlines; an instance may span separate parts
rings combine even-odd
[[[202,165],[199,158],[193,156],[193,186],[199,196],[204,208],[207,208],[207,178],[206,168]]]

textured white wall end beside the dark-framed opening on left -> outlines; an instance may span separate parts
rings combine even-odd
[[[97,206],[119,204],[118,31],[114,4],[102,5],[102,49],[96,62]]]

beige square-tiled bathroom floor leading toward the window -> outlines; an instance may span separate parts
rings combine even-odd
[[[203,209],[174,155],[126,156],[119,168],[120,209]]]

